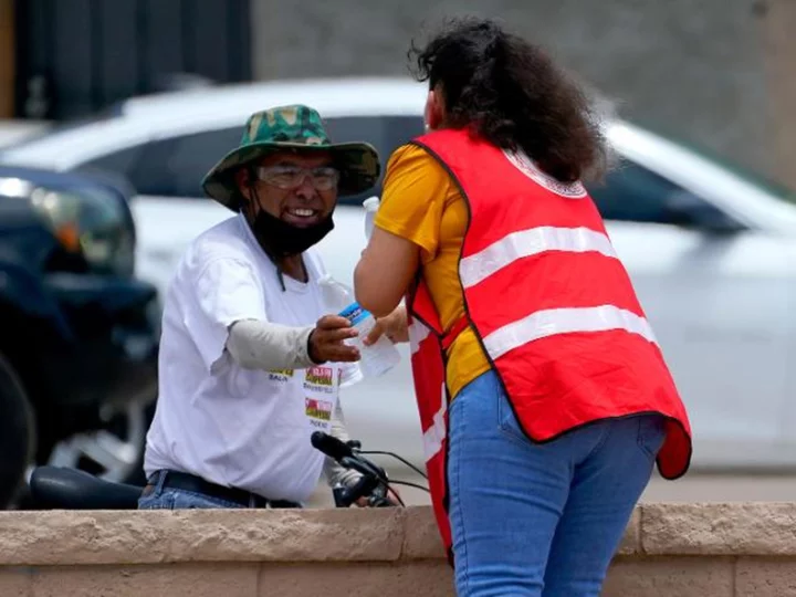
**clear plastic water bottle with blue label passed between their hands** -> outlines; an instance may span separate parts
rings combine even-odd
[[[387,336],[383,335],[370,346],[363,344],[363,338],[376,324],[376,320],[369,311],[354,301],[352,290],[328,274],[318,280],[318,284],[326,308],[348,320],[359,332],[357,337],[349,338],[346,343],[359,349],[359,369],[363,376],[378,377],[395,367],[400,360],[400,353]]]

